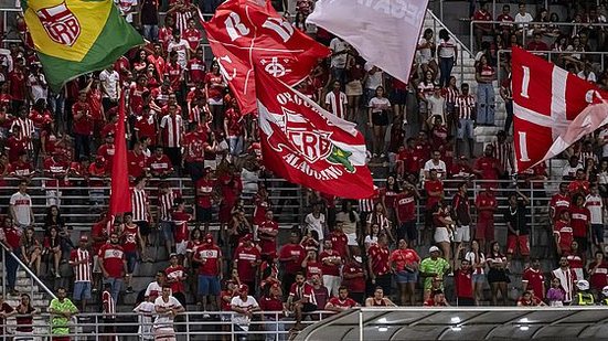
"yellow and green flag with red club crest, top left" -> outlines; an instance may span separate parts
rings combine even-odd
[[[111,0],[22,0],[25,23],[51,88],[111,65],[143,39]]]

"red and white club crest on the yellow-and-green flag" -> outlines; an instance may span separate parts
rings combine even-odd
[[[81,35],[81,23],[65,2],[36,11],[46,34],[56,43],[72,46]]]

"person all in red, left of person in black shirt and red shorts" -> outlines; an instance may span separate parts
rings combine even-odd
[[[498,210],[492,187],[483,185],[483,191],[478,192],[474,199],[474,206],[478,212],[474,237],[479,241],[479,248],[486,252],[487,243],[494,239],[494,213]]]

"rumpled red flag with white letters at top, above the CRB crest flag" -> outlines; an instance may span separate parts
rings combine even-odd
[[[257,109],[254,70],[291,86],[331,53],[285,20],[269,1],[228,0],[202,24],[243,114]]]

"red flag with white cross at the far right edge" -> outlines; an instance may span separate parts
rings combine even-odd
[[[513,47],[512,74],[518,172],[608,122],[608,93],[596,84],[519,47]]]

